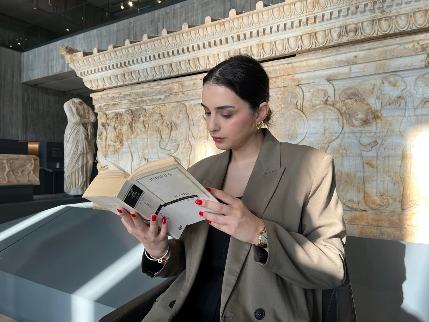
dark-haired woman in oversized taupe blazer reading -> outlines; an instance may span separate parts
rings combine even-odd
[[[156,215],[148,227],[118,209],[145,246],[143,273],[178,276],[143,321],[320,321],[320,290],[344,282],[346,229],[334,161],[261,128],[270,122],[268,102],[269,78],[248,56],[204,77],[207,128],[224,152],[188,171],[221,203],[196,200],[206,220],[187,226],[180,239],[167,239],[165,218],[158,231]]]

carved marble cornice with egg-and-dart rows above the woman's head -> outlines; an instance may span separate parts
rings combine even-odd
[[[67,63],[93,90],[203,72],[242,52],[259,60],[429,28],[429,4],[418,0],[305,0],[256,10],[230,11],[229,18],[184,23],[123,46],[92,53],[60,48]],[[68,54],[70,53],[70,54]]]

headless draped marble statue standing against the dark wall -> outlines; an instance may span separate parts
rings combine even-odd
[[[64,191],[83,194],[88,188],[94,163],[94,123],[91,108],[79,98],[64,103],[67,126],[64,133]]]

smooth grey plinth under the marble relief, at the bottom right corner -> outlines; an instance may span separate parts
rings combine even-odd
[[[347,237],[359,322],[429,322],[429,245]]]

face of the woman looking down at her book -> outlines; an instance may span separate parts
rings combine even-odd
[[[248,103],[229,88],[209,83],[204,85],[201,105],[208,132],[218,149],[242,146],[256,131],[257,113],[252,113]]]

